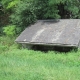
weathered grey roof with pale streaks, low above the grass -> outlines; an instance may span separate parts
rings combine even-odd
[[[80,19],[38,20],[16,39],[18,43],[78,47]]]

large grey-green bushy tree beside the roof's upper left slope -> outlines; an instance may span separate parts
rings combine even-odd
[[[21,27],[22,30],[36,21],[36,15],[34,13],[32,1],[20,1],[14,10],[14,13],[10,16],[11,21],[13,24]]]

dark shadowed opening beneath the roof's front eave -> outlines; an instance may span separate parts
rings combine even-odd
[[[32,48],[35,51],[56,51],[56,52],[70,52],[74,50],[75,52],[78,50],[76,47],[61,47],[61,46],[44,46],[44,45],[33,45]]]

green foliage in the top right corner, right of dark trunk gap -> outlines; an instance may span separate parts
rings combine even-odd
[[[80,18],[80,0],[67,0],[64,8],[69,11],[70,18]]]

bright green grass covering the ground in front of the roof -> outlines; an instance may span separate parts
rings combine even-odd
[[[80,50],[65,54],[14,47],[0,53],[0,80],[80,80]]]

